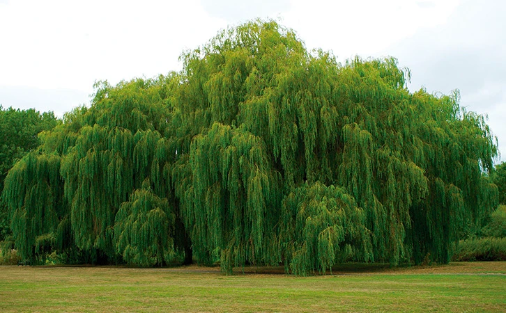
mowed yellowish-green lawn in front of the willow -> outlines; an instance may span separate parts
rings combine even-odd
[[[272,273],[263,273],[263,272]],[[0,266],[0,312],[505,312],[506,262],[279,268]]]

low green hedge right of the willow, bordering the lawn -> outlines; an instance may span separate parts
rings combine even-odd
[[[453,261],[506,261],[506,238],[461,240]]]

